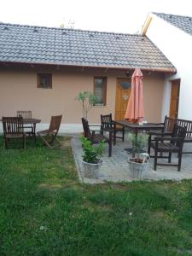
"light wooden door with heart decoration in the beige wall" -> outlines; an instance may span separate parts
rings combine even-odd
[[[124,119],[131,94],[131,79],[117,79],[115,99],[115,120]]]

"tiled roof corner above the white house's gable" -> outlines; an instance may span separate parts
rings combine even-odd
[[[173,26],[177,26],[184,32],[192,36],[192,17],[180,16],[180,15],[166,15],[160,13],[154,13],[154,15],[159,16],[161,19],[166,20]]]

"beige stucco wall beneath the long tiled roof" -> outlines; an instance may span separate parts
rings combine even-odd
[[[37,73],[52,73],[53,89],[37,88]],[[62,69],[51,71],[34,68],[0,67],[0,117],[13,116],[17,110],[32,110],[34,118],[49,123],[51,115],[63,114],[62,123],[78,124],[82,117],[81,105],[75,100],[81,90],[93,90],[93,77],[107,76],[107,106],[90,110],[89,121],[100,122],[101,113],[115,109],[116,79],[125,72],[96,69]],[[145,75],[143,79],[144,113],[148,121],[159,122],[162,108],[164,78]]]

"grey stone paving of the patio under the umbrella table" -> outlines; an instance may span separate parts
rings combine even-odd
[[[79,181],[84,183],[105,183],[108,182],[131,182],[137,180],[137,178],[131,177],[131,171],[127,162],[128,154],[125,148],[131,148],[126,142],[123,143],[120,140],[113,146],[112,157],[108,157],[108,144],[106,145],[105,153],[102,157],[102,168],[100,170],[99,177],[97,179],[84,177],[82,169],[82,148],[79,142],[79,135],[73,135],[71,140],[73,155],[79,175]],[[190,143],[189,143],[190,144]],[[184,145],[184,150],[189,145]],[[190,145],[191,147],[191,145]],[[190,148],[191,151],[191,148]],[[167,160],[160,159],[159,161]],[[172,163],[177,163],[176,155],[172,156]],[[146,180],[182,180],[184,178],[192,178],[192,154],[183,154],[181,172],[177,172],[175,166],[157,166],[157,171],[153,171],[154,159],[150,160],[148,166],[148,172],[143,179]]]

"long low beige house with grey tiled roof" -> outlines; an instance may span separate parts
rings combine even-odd
[[[136,67],[144,76],[144,119],[160,122],[165,77],[176,68],[148,37],[0,23],[0,116],[32,110],[44,129],[62,113],[61,131],[81,131],[75,97],[90,90],[99,99],[91,123],[101,113],[124,119]]]

